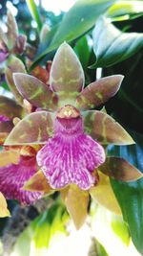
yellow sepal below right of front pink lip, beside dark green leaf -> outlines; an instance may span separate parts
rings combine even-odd
[[[99,204],[112,211],[115,214],[121,215],[121,210],[117,199],[115,198],[110,178],[107,175],[98,171],[99,183],[97,186],[92,187],[90,194]]]

